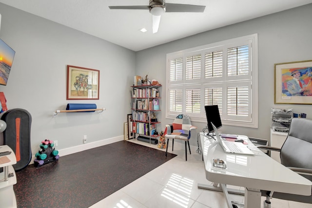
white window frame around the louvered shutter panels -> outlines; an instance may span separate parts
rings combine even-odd
[[[249,45],[249,75],[248,76],[232,76],[226,75],[227,67],[227,51],[225,48],[239,47],[242,45]],[[204,77],[204,61],[205,53],[223,50],[223,76],[222,77]],[[201,66],[201,78],[194,80],[185,79],[185,59],[188,56],[201,54],[202,66]],[[176,58],[183,58],[183,79],[181,81],[170,81],[170,60]],[[195,48],[186,49],[174,53],[167,54],[167,76],[166,76],[166,118],[174,119],[177,114],[185,113],[185,89],[201,88],[201,109],[200,113],[186,113],[189,114],[192,121],[206,123],[206,113],[204,108],[204,89],[209,85],[215,85],[216,87],[223,87],[223,97],[226,96],[226,89],[228,86],[249,86],[249,115],[242,118],[242,116],[229,116],[226,113],[221,114],[221,120],[223,125],[243,126],[250,128],[258,128],[258,40],[257,34],[248,35],[239,38],[228,39],[216,43],[211,43]],[[209,82],[207,82],[209,79]],[[171,89],[183,90],[183,102],[182,112],[170,112],[169,111],[169,91]],[[226,100],[222,101],[223,112],[226,112],[227,108]],[[219,107],[220,108],[220,107]]]

